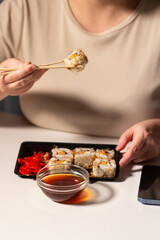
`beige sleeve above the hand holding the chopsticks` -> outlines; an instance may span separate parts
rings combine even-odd
[[[23,30],[23,0],[0,4],[0,62],[17,57]]]

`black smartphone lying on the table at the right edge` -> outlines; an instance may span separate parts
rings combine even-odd
[[[143,166],[138,201],[143,204],[160,205],[160,166]]]

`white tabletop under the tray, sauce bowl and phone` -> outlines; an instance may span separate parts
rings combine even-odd
[[[14,174],[24,141],[117,144],[117,139],[89,137],[41,129],[20,116],[0,113],[1,240],[135,240],[160,239],[160,207],[137,201],[141,166],[120,170],[115,182],[89,185],[97,191],[90,202],[52,202],[36,181]]]

